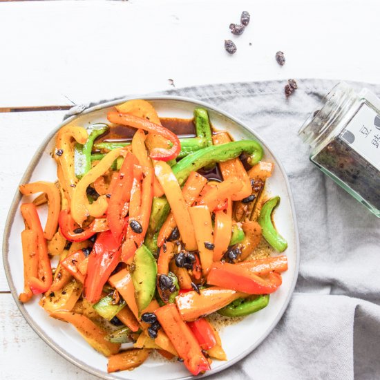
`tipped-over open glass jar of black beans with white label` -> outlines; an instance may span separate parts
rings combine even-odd
[[[310,160],[380,218],[380,99],[341,82],[298,135]]]

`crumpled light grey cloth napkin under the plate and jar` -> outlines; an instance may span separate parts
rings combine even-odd
[[[380,220],[308,160],[297,136],[336,82],[299,80],[287,99],[285,84],[160,93],[201,99],[251,126],[283,162],[296,205],[301,267],[289,307],[254,352],[210,379],[380,379]],[[380,86],[352,86],[380,96]]]

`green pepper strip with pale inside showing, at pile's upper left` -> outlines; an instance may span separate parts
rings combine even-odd
[[[91,169],[91,151],[97,137],[108,131],[106,124],[93,124],[88,127],[88,138],[84,145],[75,144],[74,147],[74,171],[77,178],[81,179]]]

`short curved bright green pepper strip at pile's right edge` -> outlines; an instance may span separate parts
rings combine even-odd
[[[287,241],[278,234],[278,231],[272,223],[272,211],[280,202],[280,197],[276,196],[267,200],[260,210],[260,216],[258,217],[258,224],[261,227],[261,233],[265,240],[276,249],[278,252],[283,252],[287,249]]]

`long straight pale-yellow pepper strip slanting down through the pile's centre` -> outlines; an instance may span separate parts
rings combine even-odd
[[[155,162],[154,169],[155,175],[160,181],[162,189],[164,189],[165,196],[167,196],[175,222],[180,230],[182,242],[188,251],[196,251],[198,246],[189,209],[184,201],[177,178],[175,178],[171,167],[166,162]]]

